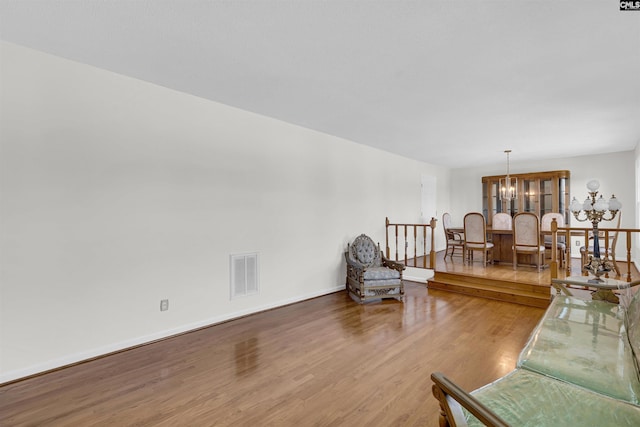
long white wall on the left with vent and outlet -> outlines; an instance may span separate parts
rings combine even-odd
[[[2,43],[0,383],[344,286],[445,168]],[[261,293],[229,298],[229,255]],[[161,299],[170,309],[160,312]]]

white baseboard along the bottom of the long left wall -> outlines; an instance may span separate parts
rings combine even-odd
[[[76,363],[80,363],[83,361],[95,359],[96,357],[105,356],[110,353],[115,353],[118,351],[126,350],[128,348],[137,347],[142,344],[148,344],[153,341],[161,340],[164,338],[168,338],[174,335],[182,334],[185,332],[193,331],[196,329],[200,329],[207,326],[212,326],[221,322],[226,322],[229,320],[237,319],[239,317],[247,316],[249,314],[259,313],[261,311],[270,310],[277,307],[282,307],[285,305],[293,304],[296,302],[308,300],[311,298],[316,298],[322,295],[328,295],[337,291],[341,291],[344,289],[344,285],[336,286],[334,288],[322,289],[319,291],[315,291],[306,295],[299,295],[293,298],[287,298],[284,300],[280,300],[274,303],[265,304],[262,306],[252,307],[251,309],[237,311],[234,313],[227,313],[221,316],[211,317],[208,319],[203,319],[198,322],[182,325],[176,328],[167,329],[164,331],[158,331],[153,334],[144,335],[136,338],[132,338],[129,340],[105,345],[98,348],[89,349],[86,351],[82,351],[79,353],[68,354],[58,359],[49,360],[44,363],[39,363],[36,365],[28,366],[26,368],[15,369],[8,372],[0,373],[0,385],[19,380],[21,378],[26,378],[32,375],[44,373],[47,371],[51,371],[54,369],[62,368],[64,366],[73,365]]]

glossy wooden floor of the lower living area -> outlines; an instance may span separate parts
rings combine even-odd
[[[544,310],[407,283],[345,292],[0,388],[2,426],[437,426],[433,371],[511,371]]]

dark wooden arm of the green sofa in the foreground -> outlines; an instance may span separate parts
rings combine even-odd
[[[433,395],[440,402],[440,427],[466,426],[467,421],[464,418],[462,407],[489,427],[509,427],[509,424],[493,413],[491,409],[442,373],[432,373],[431,380],[434,382]]]

